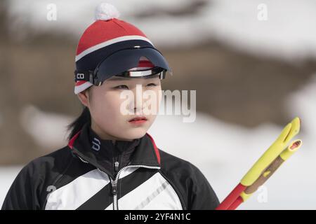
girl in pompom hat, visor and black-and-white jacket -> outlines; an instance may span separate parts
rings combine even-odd
[[[77,46],[74,92],[84,110],[69,144],[26,165],[2,209],[215,209],[202,172],[147,133],[171,71],[166,59],[112,5],[96,15]],[[145,92],[154,97],[137,96]]]

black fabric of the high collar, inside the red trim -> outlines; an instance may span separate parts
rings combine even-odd
[[[92,148],[92,141],[95,137],[100,141],[99,151]],[[114,167],[115,161],[119,161],[119,169],[126,165],[159,166],[154,148],[147,135],[141,139],[133,139],[133,141],[115,141],[113,144],[111,140],[100,139],[98,134],[93,132],[89,123],[84,125],[75,141],[74,153],[110,175],[112,179],[117,174]]]

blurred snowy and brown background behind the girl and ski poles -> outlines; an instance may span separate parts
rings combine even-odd
[[[23,166],[67,145],[77,42],[100,2],[0,1],[0,204]],[[106,2],[168,60],[164,90],[197,90],[195,123],[157,117],[159,148],[201,169],[222,201],[299,116],[302,148],[239,209],[316,209],[316,1]]]

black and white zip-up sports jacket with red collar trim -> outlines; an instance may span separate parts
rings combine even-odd
[[[86,123],[67,146],[29,162],[2,209],[215,209],[218,198],[190,162],[149,134],[103,140]]]

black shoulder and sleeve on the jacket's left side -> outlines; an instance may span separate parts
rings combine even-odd
[[[51,186],[58,189],[92,169],[96,167],[81,162],[68,146],[32,160],[13,181],[2,209],[45,209]]]

